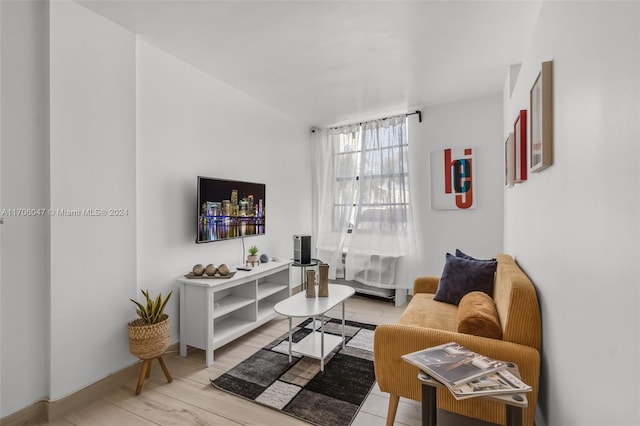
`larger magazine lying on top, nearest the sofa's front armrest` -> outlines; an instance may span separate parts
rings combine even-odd
[[[507,367],[502,361],[480,355],[456,342],[402,355],[402,358],[449,388]]]

